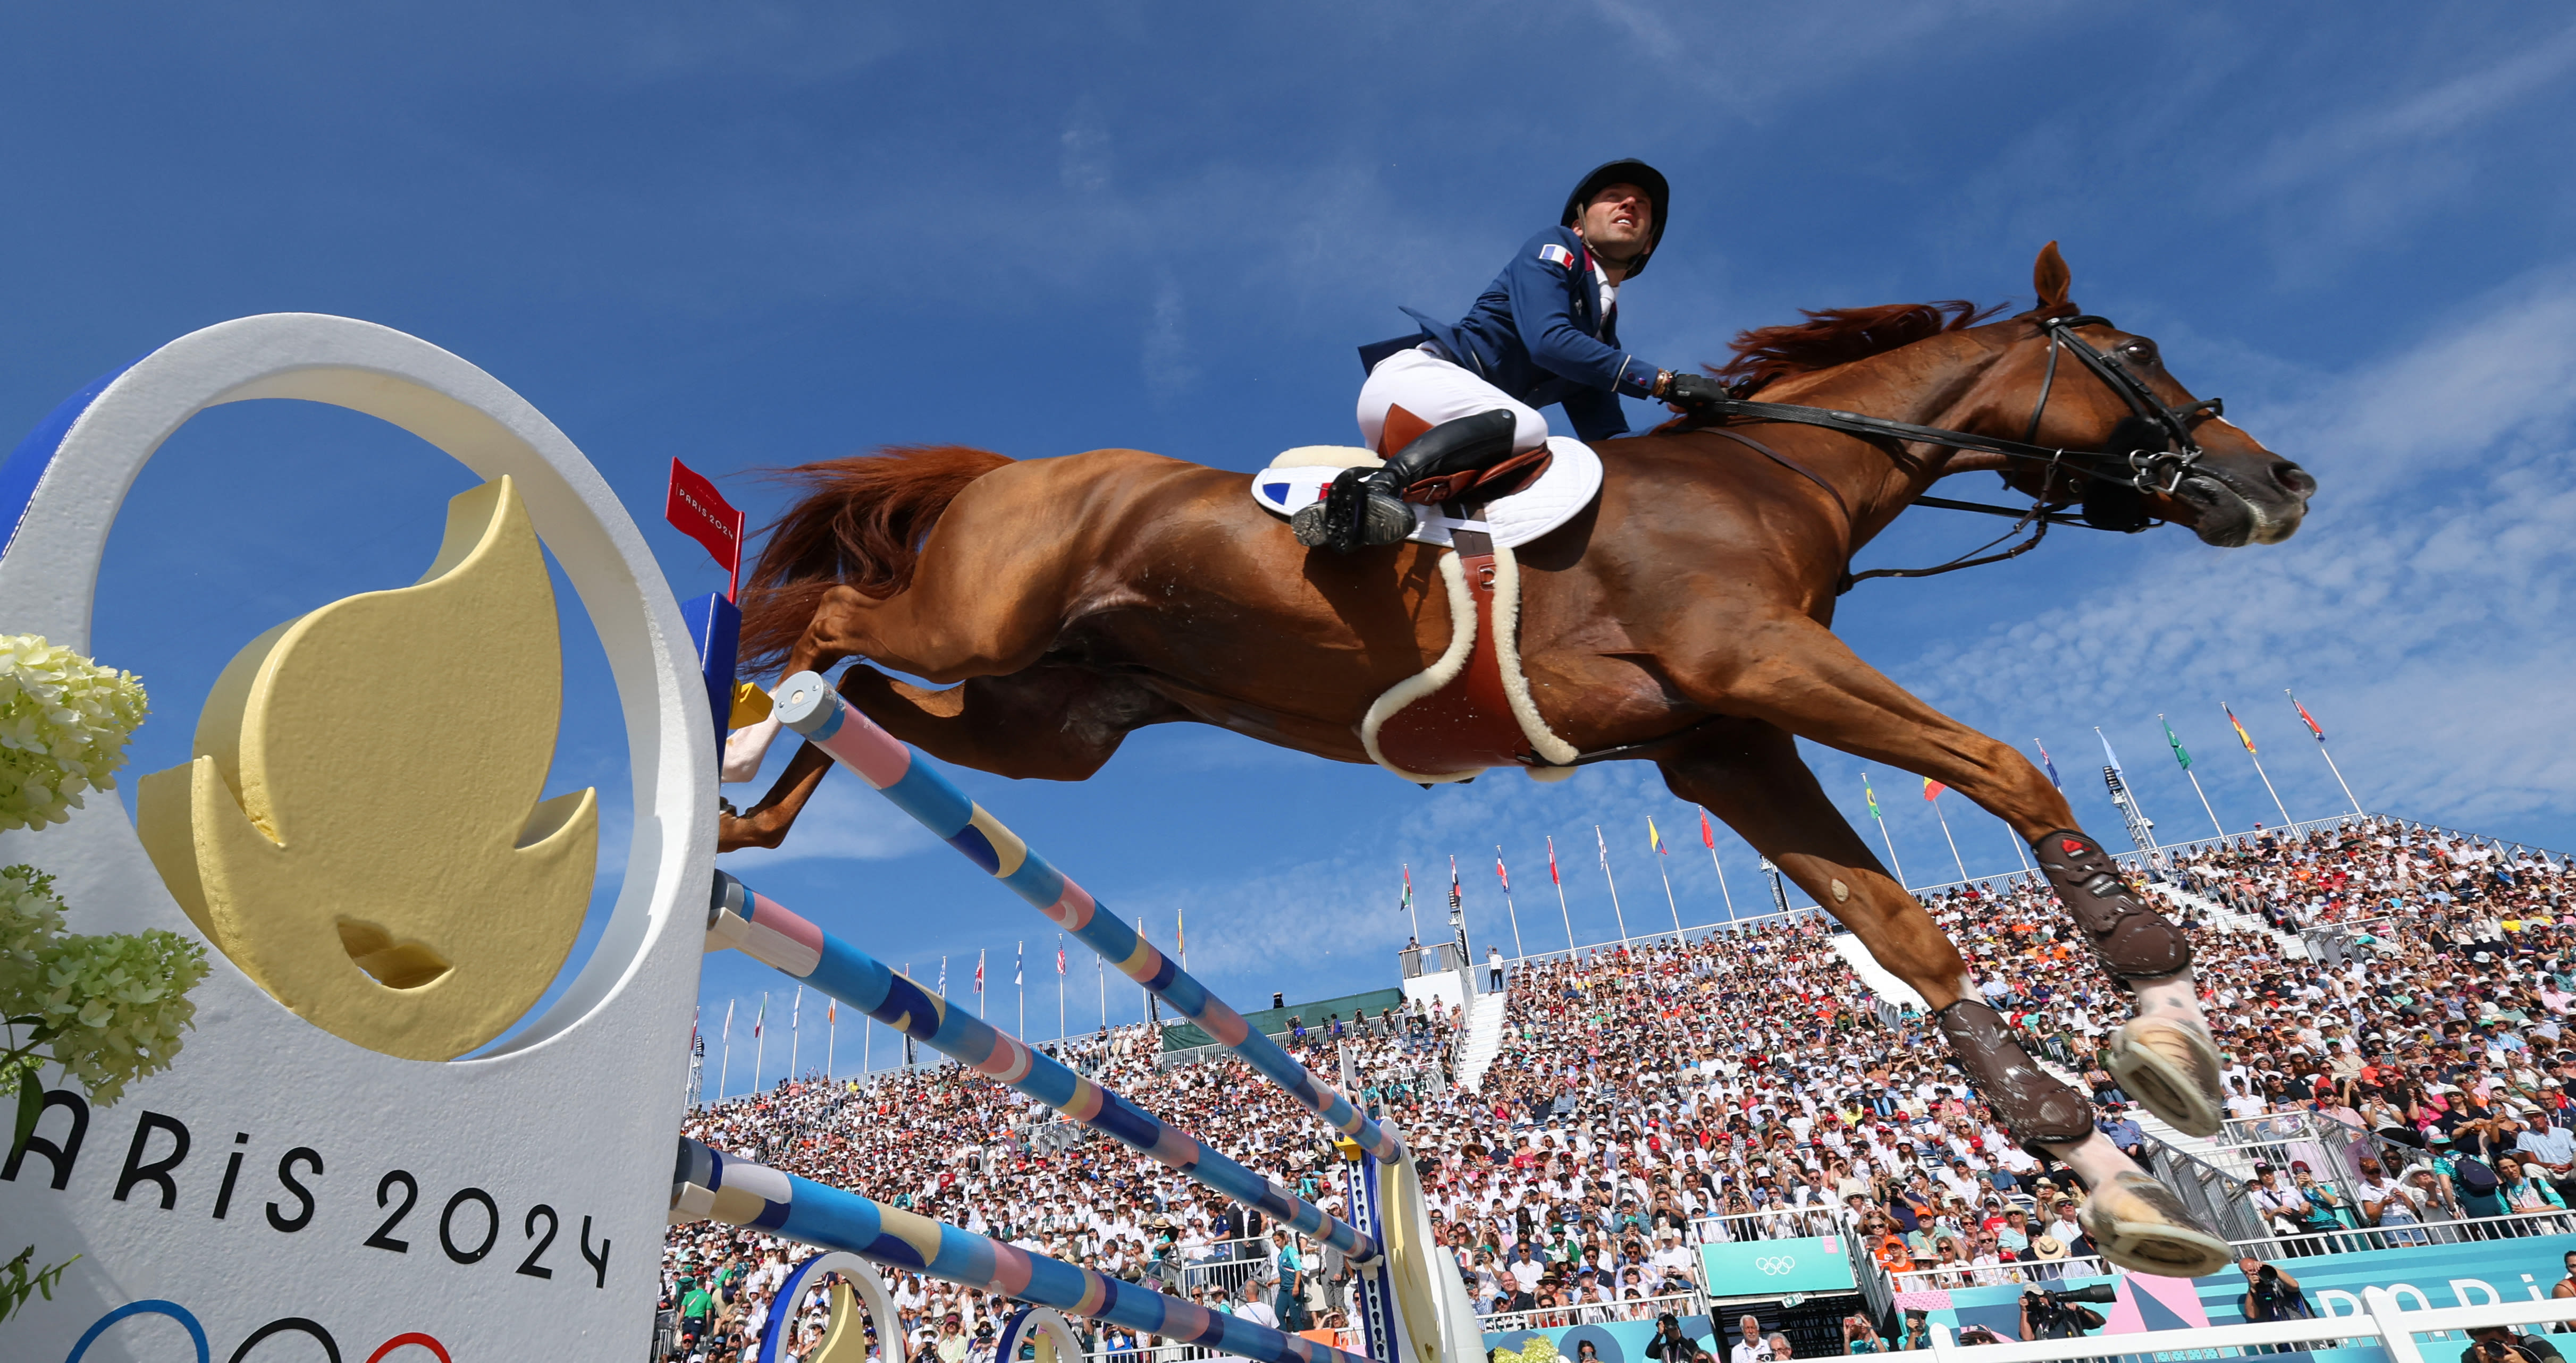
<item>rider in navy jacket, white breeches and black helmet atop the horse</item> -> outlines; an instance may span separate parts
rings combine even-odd
[[[1360,348],[1360,435],[1383,453],[1388,425],[1419,430],[1378,469],[1345,469],[1324,500],[1291,520],[1298,544],[1350,551],[1399,544],[1414,531],[1404,490],[1484,469],[1548,438],[1538,407],[1564,405],[1574,433],[1600,441],[1628,430],[1620,397],[1680,407],[1723,397],[1703,374],[1656,368],[1618,345],[1618,286],[1636,278],[1664,240],[1664,175],[1613,160],[1574,186],[1561,222],[1530,237],[1458,322]],[[1425,430],[1427,428],[1427,430]]]

